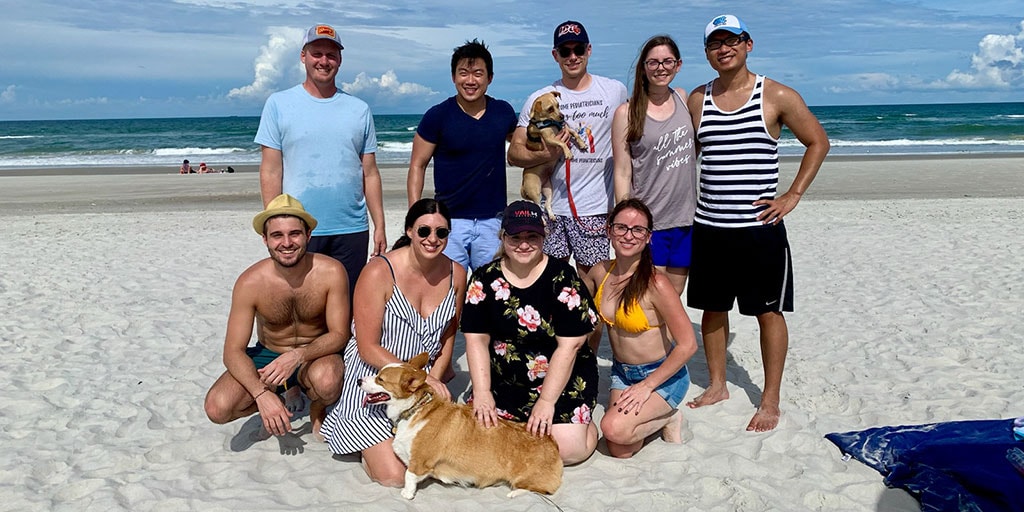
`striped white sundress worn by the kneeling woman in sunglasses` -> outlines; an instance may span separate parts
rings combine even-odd
[[[384,318],[381,331],[381,346],[401,360],[409,360],[420,352],[430,354],[431,364],[441,350],[441,335],[456,312],[456,293],[452,279],[449,292],[441,303],[424,318],[409,303],[398,285],[394,284],[394,268],[391,268],[391,298],[384,304]],[[359,358],[356,344],[350,342],[345,347],[345,381],[341,388],[341,398],[335,403],[321,427],[331,452],[352,454],[361,452],[392,436],[391,420],[384,414],[383,404],[362,407],[366,393],[356,382],[359,378],[376,374],[378,369]]]

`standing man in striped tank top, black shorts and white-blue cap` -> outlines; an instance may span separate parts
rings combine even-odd
[[[695,87],[687,101],[700,152],[687,304],[703,310],[700,333],[710,384],[690,401],[699,408],[729,397],[726,342],[729,310],[756,316],[765,383],[746,430],[778,425],[779,388],[793,311],[793,259],[782,217],[807,191],[828,153],[828,137],[797,91],[746,69],[754,40],[734,15],[705,29],[705,56],[718,78]],[[790,189],[776,197],[782,126],[804,144]]]

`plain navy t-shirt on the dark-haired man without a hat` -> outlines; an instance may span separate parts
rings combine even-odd
[[[494,218],[505,209],[505,141],[517,117],[507,101],[485,96],[480,119],[452,96],[431,106],[417,127],[434,148],[434,199],[454,218]]]

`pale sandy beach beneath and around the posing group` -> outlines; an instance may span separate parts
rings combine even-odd
[[[237,168],[238,169],[238,168]],[[783,182],[796,162],[784,161]],[[0,511],[556,510],[507,487],[380,487],[309,433],[254,442],[210,423],[234,279],[266,256],[258,174],[0,172]],[[388,241],[406,212],[385,168]],[[519,171],[509,169],[509,189]],[[429,178],[427,179],[429,183]],[[783,186],[784,187],[784,186]],[[743,430],[763,384],[757,324],[732,315],[731,398],[693,439],[565,471],[565,511],[919,510],[823,435],[1024,415],[1024,157],[830,158],[786,217],[796,311],[783,416]],[[688,310],[699,321],[699,311]],[[698,330],[699,335],[699,330]],[[461,337],[460,337],[461,341]],[[600,401],[610,351],[602,345]],[[458,378],[468,383],[462,345]],[[703,351],[687,399],[708,383]],[[595,416],[599,420],[603,404]],[[603,444],[603,443],[602,443]]]

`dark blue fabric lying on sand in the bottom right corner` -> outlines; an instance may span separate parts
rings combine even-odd
[[[1014,420],[834,432],[825,438],[901,487],[921,509],[1024,511],[1024,441]]]

